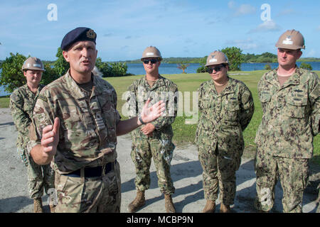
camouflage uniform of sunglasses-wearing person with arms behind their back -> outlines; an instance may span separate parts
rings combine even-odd
[[[235,199],[235,171],[239,169],[245,146],[242,131],[254,112],[252,94],[243,82],[229,77],[218,94],[212,79],[198,88],[200,119],[196,131],[198,157],[203,167],[205,199],[225,205]]]

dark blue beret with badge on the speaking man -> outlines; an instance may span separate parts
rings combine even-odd
[[[90,28],[80,27],[75,28],[72,31],[68,32],[67,35],[63,38],[60,48],[62,50],[68,50],[73,43],[78,41],[92,41],[95,43],[95,39],[97,38],[97,34]]]

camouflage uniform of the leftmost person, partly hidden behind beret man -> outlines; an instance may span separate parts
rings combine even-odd
[[[54,188],[54,172],[50,165],[37,165],[26,150],[29,140],[29,126],[33,118],[33,107],[42,88],[43,85],[39,85],[38,91],[34,94],[25,84],[10,96],[11,115],[18,131],[16,146],[18,155],[27,167],[28,189],[31,199],[41,198],[43,189],[48,194],[48,189]]]

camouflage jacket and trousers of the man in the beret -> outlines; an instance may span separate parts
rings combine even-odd
[[[69,71],[48,84],[39,95],[31,125],[30,152],[41,143],[45,126],[60,118],[59,143],[51,166],[55,170],[58,204],[55,212],[119,212],[121,179],[117,158],[117,94],[104,79],[92,76],[92,93],[75,83]],[[112,170],[85,177],[85,167]],[[80,170],[80,177],[74,177]]]

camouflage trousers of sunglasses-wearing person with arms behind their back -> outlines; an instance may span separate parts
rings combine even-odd
[[[225,154],[228,153],[219,152],[218,147],[215,150],[207,150],[202,145],[198,146],[198,157],[203,169],[205,199],[217,200],[219,189],[220,202],[231,205],[235,199],[235,171],[240,167],[241,155],[226,157]]]

